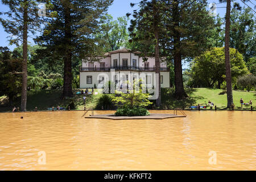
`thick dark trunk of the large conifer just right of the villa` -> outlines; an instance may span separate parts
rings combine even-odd
[[[181,64],[181,43],[180,32],[177,30],[179,27],[179,2],[174,2],[173,7],[174,14],[174,82],[175,82],[175,97],[177,100],[188,97],[184,90],[183,76],[182,76],[182,64]]]

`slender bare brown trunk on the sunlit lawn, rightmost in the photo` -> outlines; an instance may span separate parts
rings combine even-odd
[[[226,67],[226,96],[228,99],[227,107],[233,104],[232,77],[229,56],[229,30],[230,30],[230,0],[226,1],[226,27],[225,27],[225,67]]]

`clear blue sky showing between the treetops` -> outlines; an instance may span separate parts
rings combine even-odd
[[[251,2],[255,2],[255,0],[250,0]],[[126,13],[132,13],[135,7],[131,8],[130,3],[138,3],[140,0],[114,0],[113,4],[109,7],[108,13],[113,16],[114,19],[117,19],[119,16],[125,16]],[[218,3],[218,0],[209,0],[209,3],[215,2]],[[242,6],[243,3],[240,0],[237,0]],[[250,7],[254,7],[254,5],[250,2],[247,3]],[[256,4],[256,2],[254,3]],[[217,4],[217,7],[225,7],[225,3]],[[7,7],[5,5],[0,4],[0,11],[7,11]],[[225,8],[217,8],[217,14],[224,17],[225,15]],[[15,48],[15,46],[9,46],[9,42],[7,41],[8,34],[3,30],[2,25],[0,24],[0,46],[4,47],[7,46],[10,49]],[[33,40],[30,38],[28,39],[29,42],[34,43]]]

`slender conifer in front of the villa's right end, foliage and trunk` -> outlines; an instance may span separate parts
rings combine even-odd
[[[135,4],[131,3],[131,6]],[[131,20],[131,26],[129,27],[129,31],[131,32],[131,36],[135,39],[134,41],[140,41],[144,44],[146,42],[150,42],[154,44],[154,52],[143,52],[146,56],[154,56],[155,57],[155,73],[158,75],[156,78],[156,89],[158,89],[158,98],[156,99],[156,106],[161,105],[161,85],[160,85],[160,55],[159,55],[159,34],[160,29],[162,27],[162,7],[163,1],[159,0],[143,0],[139,3],[140,10],[134,10],[133,17],[134,20]],[[130,14],[127,14],[129,16]],[[138,30],[137,34],[134,31]],[[142,33],[143,32],[143,33]],[[137,35],[141,35],[138,38]]]

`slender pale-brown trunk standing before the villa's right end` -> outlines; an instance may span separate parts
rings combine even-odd
[[[159,27],[158,27],[158,20],[159,16],[156,12],[156,2],[153,2],[153,13],[154,13],[154,35],[155,35],[155,73],[156,73],[156,81],[158,82],[158,98],[156,98],[156,106],[161,106],[161,82],[160,82],[160,58],[159,58]]]

